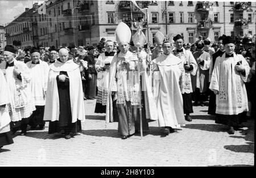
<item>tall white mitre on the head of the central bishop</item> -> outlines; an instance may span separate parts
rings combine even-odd
[[[115,39],[117,40],[117,43],[121,42],[127,42],[130,43],[131,39],[131,30],[127,26],[127,24],[120,22],[117,26],[117,29],[115,29]]]

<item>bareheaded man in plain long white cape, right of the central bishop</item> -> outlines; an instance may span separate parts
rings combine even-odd
[[[156,87],[156,107],[159,127],[164,127],[164,134],[185,125],[183,98],[180,90],[180,77],[183,63],[171,53],[171,42],[163,43],[163,54],[154,59],[153,70]],[[157,74],[158,73],[158,74]]]

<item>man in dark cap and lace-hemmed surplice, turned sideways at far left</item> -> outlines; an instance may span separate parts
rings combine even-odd
[[[20,129],[20,135],[26,135],[27,123],[32,111],[35,110],[34,98],[31,94],[30,69],[15,59],[15,48],[6,45],[4,59],[6,63],[5,77],[10,91],[10,117],[13,133]]]

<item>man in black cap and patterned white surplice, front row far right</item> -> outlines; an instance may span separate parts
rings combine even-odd
[[[216,114],[221,114],[223,123],[228,125],[228,133],[234,134],[242,122],[242,113],[248,110],[245,82],[250,67],[242,55],[234,52],[231,36],[226,36],[222,43],[225,53],[215,61],[209,88],[216,94]]]

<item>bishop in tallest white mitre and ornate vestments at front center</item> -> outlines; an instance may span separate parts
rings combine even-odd
[[[130,28],[123,22],[115,30],[115,37],[120,51],[114,56],[110,65],[110,90],[106,106],[106,121],[113,119],[112,100],[116,100],[118,114],[118,131],[122,139],[135,133],[135,125],[139,125],[139,90],[138,63],[141,71],[145,71],[146,63],[140,56],[129,51],[131,39]],[[111,96],[112,95],[112,96]],[[143,114],[145,115],[145,114]],[[142,117],[143,130],[148,130],[146,117]]]

